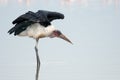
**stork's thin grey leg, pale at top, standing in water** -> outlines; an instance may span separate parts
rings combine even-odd
[[[36,69],[36,79],[35,80],[38,80],[39,70],[40,70],[40,59],[39,59],[39,55],[38,55],[38,39],[36,39],[35,52],[36,52],[36,59],[37,59],[37,69]]]

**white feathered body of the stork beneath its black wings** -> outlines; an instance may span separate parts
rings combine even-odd
[[[52,25],[44,27],[39,23],[35,23],[28,26],[26,30],[19,34],[19,36],[29,36],[35,39],[39,36],[49,37],[54,30],[55,28]]]

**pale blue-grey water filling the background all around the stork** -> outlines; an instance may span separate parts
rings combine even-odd
[[[52,24],[74,45],[41,39],[39,80],[120,80],[120,0],[0,0],[0,80],[35,80],[35,41],[7,31],[40,9],[65,15]]]

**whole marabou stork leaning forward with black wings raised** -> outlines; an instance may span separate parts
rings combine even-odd
[[[36,40],[35,52],[37,59],[36,80],[38,80],[40,59],[38,55],[38,40],[45,37],[58,37],[72,43],[61,31],[51,25],[55,19],[64,19],[64,15],[59,12],[38,10],[37,12],[28,11],[16,18],[12,23],[15,25],[8,33],[18,36],[29,36]]]

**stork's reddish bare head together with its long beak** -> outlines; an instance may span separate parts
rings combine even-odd
[[[62,34],[61,31],[59,31],[59,30],[54,30],[52,32],[52,34],[50,35],[50,37],[51,38],[58,37],[58,38],[61,38],[61,39],[72,44],[72,42],[64,34]]]

